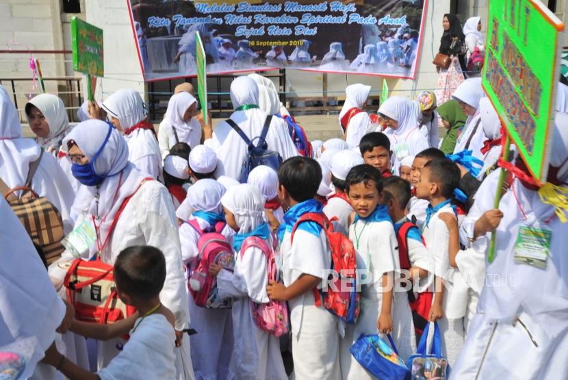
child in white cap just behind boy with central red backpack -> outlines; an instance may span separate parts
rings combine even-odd
[[[345,178],[350,169],[363,163],[363,157],[351,150],[341,150],[331,159],[331,183],[335,191],[328,195],[328,201],[324,207],[324,214],[328,219],[337,217],[334,223],[335,230],[348,236],[348,218],[353,212],[351,203],[345,193]]]

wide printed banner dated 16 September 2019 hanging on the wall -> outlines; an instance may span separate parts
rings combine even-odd
[[[296,68],[416,77],[428,0],[127,0],[144,80]]]

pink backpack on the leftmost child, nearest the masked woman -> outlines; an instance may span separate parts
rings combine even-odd
[[[209,275],[209,264],[221,264],[224,269],[233,271],[235,256],[233,247],[221,234],[226,223],[219,221],[211,230],[201,230],[199,223],[193,219],[187,222],[199,234],[197,249],[197,267],[193,271],[188,288],[197,306],[211,309],[231,308],[231,299],[219,299],[217,280]]]

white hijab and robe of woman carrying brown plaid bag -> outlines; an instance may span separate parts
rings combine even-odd
[[[18,111],[8,92],[0,85],[0,178],[10,189],[25,185],[29,164],[40,157],[40,146],[22,137]],[[65,232],[73,228],[70,210],[75,192],[65,173],[51,154],[43,154],[31,189],[45,197],[60,211]]]

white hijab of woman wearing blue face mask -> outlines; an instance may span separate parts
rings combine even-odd
[[[128,144],[120,133],[101,120],[87,120],[80,122],[64,139],[66,148],[70,140],[81,149],[81,152],[90,160],[101,149],[109,133],[110,136],[103,150],[94,161],[94,171],[99,176],[107,176],[99,185],[98,214],[100,221],[101,242],[107,239],[110,226],[118,209],[125,198],[132,195],[138,188],[144,176],[128,161]],[[77,215],[87,213],[97,214],[96,186],[81,186],[73,210]],[[106,215],[106,217],[104,217]],[[103,220],[104,217],[104,220]],[[88,217],[86,220],[90,220]],[[96,246],[92,247],[90,254],[94,254]]]

